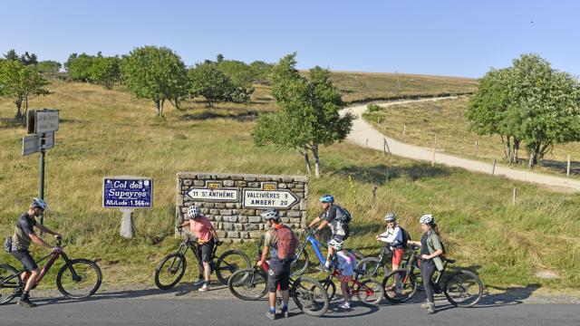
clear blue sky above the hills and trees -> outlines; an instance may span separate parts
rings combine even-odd
[[[538,53],[580,75],[580,1],[3,1],[0,52],[129,53],[168,46],[214,59],[298,67],[480,77]]]

